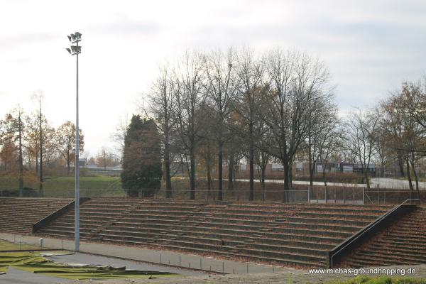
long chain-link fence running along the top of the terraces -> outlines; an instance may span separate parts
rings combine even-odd
[[[291,190],[259,190],[252,193],[246,187],[234,190],[222,190],[222,199],[219,190],[196,188],[194,195],[198,201],[226,201],[226,202],[285,202],[285,203],[318,203],[318,204],[399,204],[404,200],[419,198],[426,200],[426,190],[389,190],[371,189],[365,187],[324,187],[307,186],[293,187]],[[191,190],[172,190],[168,195],[164,189],[153,190],[109,190],[109,189],[80,189],[80,197],[116,197],[116,198],[167,198],[190,200]],[[18,197],[18,190],[0,190],[0,197]],[[23,191],[23,197],[58,197],[74,198],[75,189],[50,190],[40,195],[38,191]]]

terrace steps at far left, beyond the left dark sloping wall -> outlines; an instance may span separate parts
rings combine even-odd
[[[33,224],[71,202],[60,198],[0,197],[0,231],[31,234]]]

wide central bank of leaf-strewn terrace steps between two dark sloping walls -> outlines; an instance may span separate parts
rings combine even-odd
[[[80,230],[82,239],[91,241],[324,267],[330,249],[388,209],[343,204],[211,205],[180,200],[92,199],[80,206]],[[37,233],[72,238],[74,211]]]

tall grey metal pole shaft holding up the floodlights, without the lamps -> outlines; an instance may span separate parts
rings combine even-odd
[[[78,40],[77,40],[78,46]],[[77,49],[77,82],[75,97],[75,251],[80,251],[80,131],[78,125],[78,49]]]

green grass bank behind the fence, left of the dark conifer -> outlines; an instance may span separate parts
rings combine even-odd
[[[24,187],[35,189],[38,192],[38,182],[34,177],[26,177]],[[0,190],[17,190],[18,178],[9,175],[0,176]],[[45,197],[73,197],[75,177],[45,177],[43,182]],[[105,175],[80,177],[81,197],[124,197],[119,177]]]

